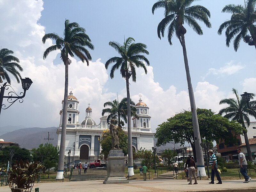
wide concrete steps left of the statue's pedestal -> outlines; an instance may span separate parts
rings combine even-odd
[[[78,170],[74,169],[71,177],[71,181],[87,181],[87,180],[105,180],[108,171],[103,168],[87,169],[84,174],[84,169],[81,170],[81,175],[78,174]]]

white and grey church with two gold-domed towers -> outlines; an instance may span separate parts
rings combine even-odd
[[[92,108],[89,104],[89,107],[85,109],[85,118],[79,123],[78,118],[80,112],[78,107],[79,101],[71,91],[68,95],[65,161],[67,161],[69,150],[71,150],[70,161],[98,159],[101,151],[100,137],[102,131],[108,129],[107,116],[102,116],[100,123],[96,123],[92,119]],[[135,108],[137,108],[139,119],[132,118],[132,148],[135,151],[140,148],[152,150],[152,147],[154,147],[154,133],[151,131],[149,107],[140,98]],[[60,146],[62,116],[63,100],[60,111],[60,126],[57,129],[58,146]],[[123,129],[125,132],[128,132],[127,127],[123,127]]]

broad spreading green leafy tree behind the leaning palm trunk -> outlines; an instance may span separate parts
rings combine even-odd
[[[220,114],[214,114],[212,110],[197,108],[198,123],[202,138],[208,141],[225,140],[229,144],[237,143],[236,135],[242,133],[242,126],[236,121],[229,121]],[[184,145],[186,141],[191,144],[194,158],[196,159],[192,116],[190,111],[182,111],[172,116],[156,128],[156,146],[165,145],[174,141]],[[201,138],[201,140],[202,140]]]

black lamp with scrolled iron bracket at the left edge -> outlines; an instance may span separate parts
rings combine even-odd
[[[29,89],[30,85],[33,82],[31,81],[31,79],[29,79],[28,77],[26,77],[25,79],[21,79],[21,84],[22,84],[22,88],[24,90],[24,92],[20,93],[20,96],[13,90],[11,85],[7,85],[7,82],[5,82],[3,85],[0,84],[0,115],[1,115],[1,109],[7,109],[9,108],[15,101],[19,100],[20,103],[23,102],[23,97],[25,97],[26,95],[26,91]],[[13,91],[8,92],[8,96],[4,96],[4,91],[8,90],[9,88],[12,88]],[[7,102],[10,103],[10,105],[8,107],[6,107],[5,104],[3,104],[3,99],[7,98]]]

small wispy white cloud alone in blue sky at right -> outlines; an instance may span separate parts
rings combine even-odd
[[[228,63],[225,63],[225,65],[219,69],[210,68],[208,69],[208,72],[205,76],[202,77],[203,81],[206,76],[209,75],[216,75],[216,76],[225,76],[225,75],[233,75],[237,73],[239,70],[243,69],[245,65],[242,64],[234,64],[234,61],[230,61]]]

